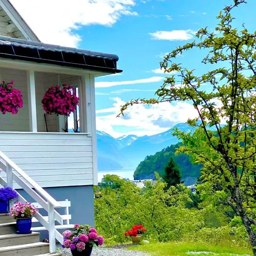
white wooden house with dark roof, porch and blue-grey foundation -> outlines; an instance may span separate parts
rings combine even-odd
[[[113,54],[41,43],[12,4],[0,0],[0,79],[13,80],[24,102],[16,115],[0,113],[0,184],[13,186],[21,201],[37,202],[47,211],[47,218],[41,214],[35,217],[49,230],[51,253],[55,252],[55,238],[62,241],[55,227],[57,222],[64,224],[58,201],[71,202],[72,223],[94,224],[94,79],[122,72],[116,67],[117,61]],[[59,81],[76,87],[80,133],[63,132],[63,116],[44,116],[41,100]],[[13,255],[23,255],[18,250]],[[4,252],[0,245],[0,255],[12,255]]]

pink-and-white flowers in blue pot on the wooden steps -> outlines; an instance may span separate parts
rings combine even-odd
[[[16,202],[15,205],[10,209],[9,215],[15,218],[17,224],[17,233],[29,234],[32,225],[32,216],[38,212],[35,205],[26,202],[22,204]]]

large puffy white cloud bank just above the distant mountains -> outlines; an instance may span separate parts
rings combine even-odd
[[[153,135],[166,131],[179,122],[186,122],[188,118],[197,116],[197,112],[192,105],[187,102],[177,102],[174,105],[164,102],[156,105],[133,105],[125,111],[125,116],[116,118],[120,111],[120,106],[125,102],[116,97],[113,98],[113,108],[99,110],[98,113],[108,113],[109,115],[96,116],[96,125],[98,130],[111,134],[113,137],[119,137],[127,134],[136,134],[137,136]],[[120,126],[125,127],[129,132],[120,131]]]

